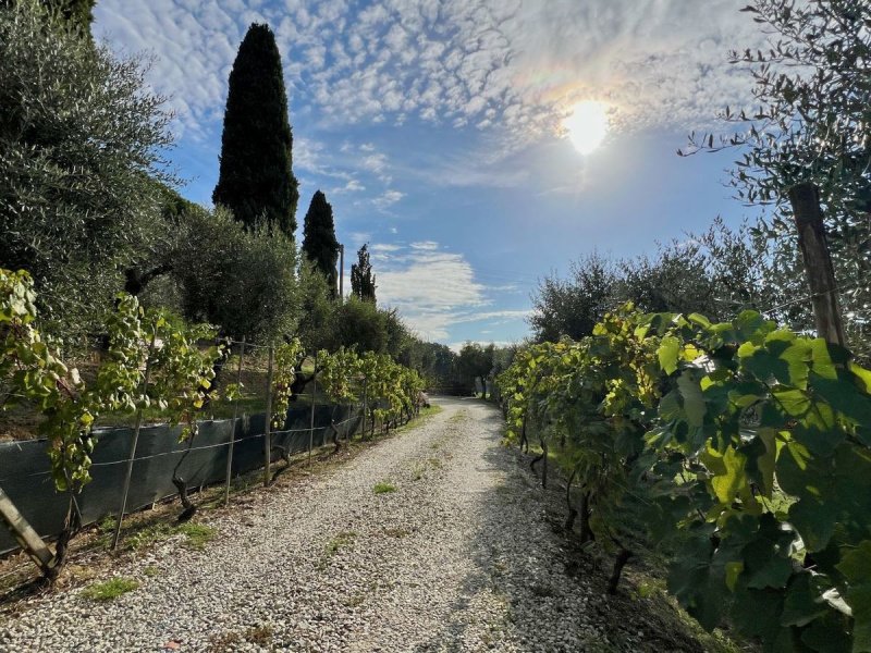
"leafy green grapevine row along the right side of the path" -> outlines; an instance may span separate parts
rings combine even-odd
[[[578,479],[590,537],[618,562],[640,534],[662,547],[703,627],[871,651],[871,372],[848,352],[752,311],[625,307],[499,384],[510,438],[533,424]]]

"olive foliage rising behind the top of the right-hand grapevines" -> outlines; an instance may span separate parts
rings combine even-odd
[[[758,310],[800,331],[812,324],[808,307],[789,301],[800,292],[800,264],[795,249],[773,256],[771,243],[747,222],[729,229],[717,218],[707,231],[660,243],[650,255],[612,262],[593,254],[573,263],[568,278],[551,275],[533,296],[530,322],[538,342],[577,341],[629,301],[643,312],[717,320]]]

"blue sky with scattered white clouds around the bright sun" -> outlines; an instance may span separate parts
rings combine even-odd
[[[728,50],[762,35],[746,0],[99,0],[94,33],[146,53],[175,113],[170,158],[191,200],[218,177],[226,79],[252,23],[284,64],[299,181],[332,204],[345,284],[369,244],[379,305],[425,340],[517,342],[547,274],[615,259],[747,213],[734,152],[680,158],[716,112],[747,106]],[[609,135],[582,155],[585,101]]]

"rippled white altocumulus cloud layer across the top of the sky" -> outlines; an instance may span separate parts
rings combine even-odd
[[[252,22],[268,22],[294,112],[323,125],[408,116],[535,137],[600,97],[624,128],[708,119],[741,103],[725,51],[760,36],[744,0],[101,0],[97,32],[158,56],[156,88],[184,128],[220,128],[226,76]],[[711,106],[717,98],[717,106]],[[378,168],[373,159],[370,167]]]

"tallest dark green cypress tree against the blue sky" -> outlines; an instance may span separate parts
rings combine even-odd
[[[253,24],[230,72],[221,170],[212,194],[248,227],[266,219],[293,238],[298,183],[291,165],[293,135],[275,36]]]

